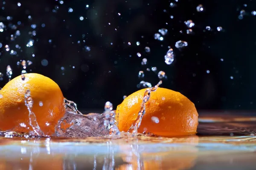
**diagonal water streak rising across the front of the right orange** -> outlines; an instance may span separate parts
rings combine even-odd
[[[148,102],[148,100],[150,98],[150,94],[151,94],[151,92],[156,91],[156,89],[161,84],[162,84],[162,81],[159,81],[158,84],[155,85],[154,87],[151,87],[150,89],[146,89],[146,91],[144,93],[144,96],[143,96],[143,101],[142,101],[142,105],[141,105],[141,108],[140,108],[140,112],[139,112],[136,120],[134,121],[134,123],[129,128],[127,133],[131,133],[132,135],[138,135],[138,129],[140,127],[142,118],[145,115],[145,107],[146,107],[146,103]]]

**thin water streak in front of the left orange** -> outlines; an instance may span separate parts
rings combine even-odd
[[[26,90],[25,93],[25,105],[29,111],[29,125],[32,127],[33,131],[30,132],[30,135],[40,135],[43,136],[44,133],[41,131],[38,122],[36,121],[35,113],[32,112],[32,107],[33,107],[33,99],[31,97],[31,92],[30,90]]]

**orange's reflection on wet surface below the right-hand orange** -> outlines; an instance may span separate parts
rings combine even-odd
[[[191,141],[189,141],[191,139]],[[138,157],[138,152],[136,146],[131,145],[123,145],[120,146],[121,150],[125,155],[122,156],[122,160],[124,164],[121,164],[116,168],[116,170],[128,170],[128,169],[141,169],[141,170],[186,170],[195,165],[195,160],[198,155],[198,148],[195,145],[198,144],[198,136],[194,136],[193,138],[188,138],[185,140],[180,140],[180,142],[188,142],[184,146],[174,146],[174,147],[166,147],[165,152],[160,153],[143,153],[140,151]],[[164,146],[164,145],[163,145]],[[138,159],[139,158],[139,159]]]

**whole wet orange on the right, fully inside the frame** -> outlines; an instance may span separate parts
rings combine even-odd
[[[120,131],[128,131],[137,118],[145,90],[134,92],[117,106],[116,121]],[[146,103],[138,132],[147,131],[162,136],[191,135],[196,133],[197,126],[195,105],[179,92],[158,87],[151,92]]]

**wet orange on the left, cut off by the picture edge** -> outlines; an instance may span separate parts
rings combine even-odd
[[[64,97],[58,84],[43,75],[18,76],[0,90],[0,130],[29,132],[29,111],[25,106],[25,92],[31,91],[32,112],[45,135],[55,132],[55,125],[65,113]],[[40,106],[40,103],[42,106]]]

